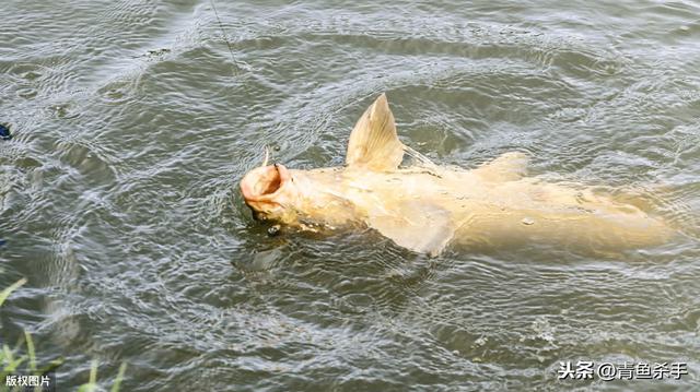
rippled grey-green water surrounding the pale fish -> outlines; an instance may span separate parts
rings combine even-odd
[[[700,3],[3,0],[1,338],[61,390],[689,390],[700,384]],[[435,259],[378,235],[270,237],[237,181],[264,147],[340,165],[386,92],[441,164],[649,203],[680,229],[622,260],[533,246]],[[687,361],[558,381],[559,361]]]

